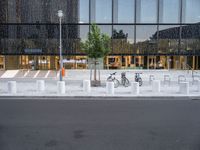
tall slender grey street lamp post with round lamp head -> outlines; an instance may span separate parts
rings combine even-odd
[[[58,17],[60,21],[60,81],[62,81],[62,68],[63,68],[63,58],[62,58],[62,17],[63,11],[58,10]]]

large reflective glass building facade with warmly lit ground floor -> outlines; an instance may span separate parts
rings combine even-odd
[[[166,68],[168,60],[175,60],[199,68],[199,0],[1,0],[0,60],[6,62],[4,56],[16,56],[19,68],[38,59],[38,64],[56,69],[59,9],[64,12],[66,62],[85,59],[80,43],[87,39],[90,25],[96,23],[112,38],[107,66],[116,63],[120,67],[151,68],[153,63],[155,68],[164,62]],[[195,60],[191,63],[186,57]],[[175,64],[171,67],[178,68]]]

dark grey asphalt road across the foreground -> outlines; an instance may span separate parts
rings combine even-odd
[[[199,100],[0,100],[0,150],[200,150]]]

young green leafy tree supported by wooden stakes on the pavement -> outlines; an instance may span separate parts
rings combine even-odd
[[[108,35],[102,34],[99,27],[95,24],[91,25],[91,32],[88,33],[88,39],[82,43],[82,50],[94,64],[94,83],[97,83],[97,64],[98,59],[103,58],[110,52],[111,39]]]

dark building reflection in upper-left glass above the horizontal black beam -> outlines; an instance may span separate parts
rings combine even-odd
[[[6,0],[3,4],[0,9],[7,12],[7,23],[57,23],[58,10],[63,10],[63,23],[79,21],[79,0]]]

